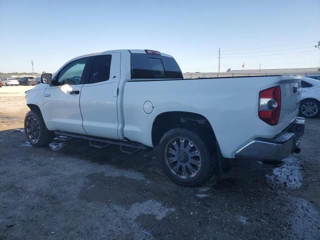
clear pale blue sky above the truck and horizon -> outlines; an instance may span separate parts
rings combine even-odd
[[[320,65],[320,0],[0,0],[0,72],[154,49],[184,72]],[[253,48],[253,49],[252,49]]]

